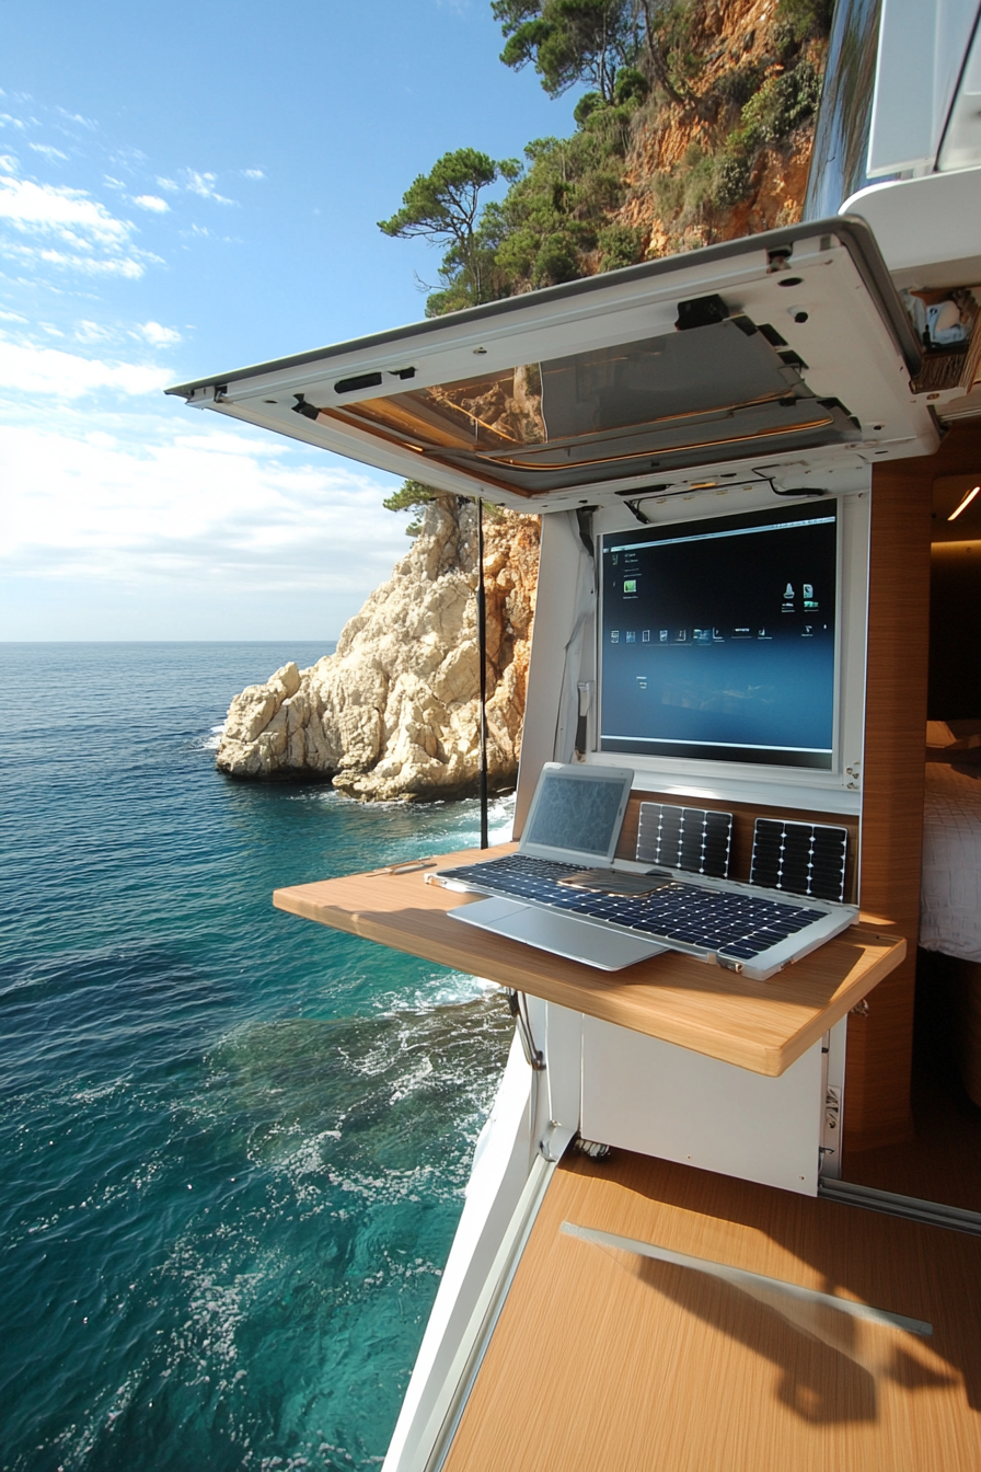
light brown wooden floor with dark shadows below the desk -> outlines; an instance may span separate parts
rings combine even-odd
[[[563,1222],[932,1323],[931,1338]],[[977,1472],[981,1239],[621,1153],[556,1170],[447,1472]]]

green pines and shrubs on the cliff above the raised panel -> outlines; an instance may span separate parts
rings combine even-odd
[[[649,231],[618,213],[631,191],[631,149],[668,118],[688,119],[693,141],[647,181],[647,212],[671,222],[671,249],[693,227],[713,238],[725,212],[750,196],[763,150],[813,116],[812,43],[828,34],[832,0],[778,0],[762,53],[752,31],[710,32],[707,0],[491,0],[491,10],[504,65],[534,66],[550,96],[585,91],[572,137],[534,140],[522,163],[475,149],[446,153],[379,222],[390,236],[444,247],[427,316],[644,259]],[[706,37],[721,44],[706,52]],[[500,183],[507,188],[493,197]]]

